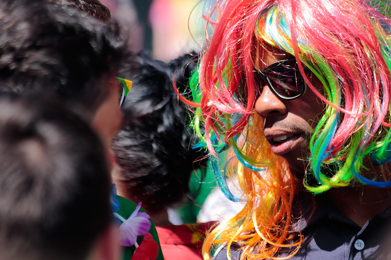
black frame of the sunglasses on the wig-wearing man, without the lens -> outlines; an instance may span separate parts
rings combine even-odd
[[[296,73],[299,73],[300,75],[300,78],[298,77],[295,77],[295,80],[296,80],[296,83],[298,83],[298,79],[301,79],[301,81],[303,81],[303,91],[301,91],[301,93],[297,96],[294,96],[294,97],[284,97],[282,96],[280,93],[278,93],[278,91],[275,89],[275,86],[274,86],[274,82],[272,82],[272,80],[270,80],[269,76],[268,76],[268,73],[269,71],[273,71],[274,68],[280,66],[280,65],[283,65],[284,63],[286,62],[289,62],[289,64],[297,64],[297,61],[295,59],[287,59],[287,60],[279,60],[277,62],[274,62],[272,64],[270,64],[269,66],[267,66],[266,68],[260,70],[260,71],[257,71],[257,74],[262,78],[263,81],[265,81],[267,83],[267,85],[269,86],[270,90],[273,92],[274,95],[276,95],[279,99],[282,99],[282,100],[295,100],[295,99],[298,99],[300,97],[302,97],[306,90],[307,90],[307,84],[305,83],[304,79],[303,79],[303,76],[300,74],[300,71],[295,69],[295,68],[292,68],[293,70],[296,71]],[[278,74],[278,73],[274,73],[274,74]]]

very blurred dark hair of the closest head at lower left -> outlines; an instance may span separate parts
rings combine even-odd
[[[86,259],[111,221],[89,125],[58,102],[1,93],[0,154],[0,259]]]

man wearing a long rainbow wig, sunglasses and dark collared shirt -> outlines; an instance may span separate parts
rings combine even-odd
[[[188,103],[219,185],[246,206],[204,258],[391,259],[390,2],[211,9]]]

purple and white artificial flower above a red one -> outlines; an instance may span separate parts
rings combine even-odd
[[[136,244],[137,236],[144,236],[150,231],[151,221],[147,213],[138,212],[141,208],[141,202],[138,203],[134,212],[125,220],[119,214],[114,213],[123,223],[119,226],[119,243],[123,246],[131,246]]]

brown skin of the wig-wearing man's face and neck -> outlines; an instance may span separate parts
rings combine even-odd
[[[276,49],[261,49],[255,56],[255,67],[261,70],[277,60],[288,58],[289,55]],[[307,76],[316,88],[321,88],[318,80],[311,75]],[[309,88],[299,99],[281,100],[264,83],[260,97],[256,100],[255,110],[263,119],[264,135],[272,145],[272,151],[287,161],[298,179],[304,177],[308,161],[303,159],[306,159],[309,153],[308,140],[324,108],[324,103]],[[293,137],[291,140],[282,141],[282,145],[279,146],[273,138],[283,135]],[[371,171],[379,169],[373,168]],[[332,188],[326,192],[326,196],[342,214],[361,227],[370,218],[391,206],[391,188],[375,188],[368,185]]]

